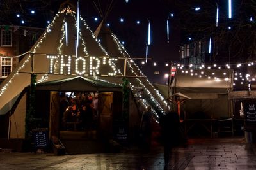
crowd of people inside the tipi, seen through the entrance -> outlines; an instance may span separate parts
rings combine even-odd
[[[70,122],[77,123],[78,130],[95,129],[98,117],[98,94],[76,92],[74,96],[66,96],[65,93],[61,93],[60,114],[63,130],[74,129]]]

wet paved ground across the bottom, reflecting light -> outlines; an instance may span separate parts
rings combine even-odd
[[[256,169],[254,145],[243,137],[189,139],[173,150],[170,169]],[[52,153],[0,152],[0,169],[163,169],[163,148],[130,148],[123,153],[55,156]]]

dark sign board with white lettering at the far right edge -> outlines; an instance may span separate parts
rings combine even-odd
[[[256,127],[256,101],[250,100],[244,103],[245,130],[255,131]]]

